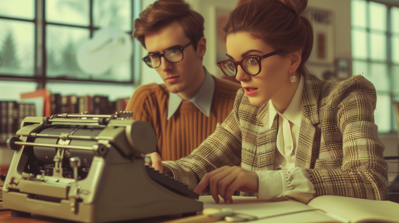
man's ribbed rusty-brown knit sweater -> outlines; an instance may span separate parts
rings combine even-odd
[[[164,84],[143,85],[135,90],[126,111],[133,112],[133,119],[147,121],[154,127],[158,140],[157,152],[162,160],[178,160],[189,155],[233,109],[237,90],[241,86],[231,81],[213,79],[215,87],[209,117],[192,102],[183,101],[167,120],[169,91]]]

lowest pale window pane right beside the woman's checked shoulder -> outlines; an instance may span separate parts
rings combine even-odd
[[[378,126],[379,133],[391,131],[391,97],[389,94],[377,93],[377,106],[374,110],[374,123]]]

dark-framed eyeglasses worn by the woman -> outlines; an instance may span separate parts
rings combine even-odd
[[[240,61],[232,60],[222,60],[217,62],[217,66],[229,78],[235,77],[237,75],[238,66],[241,66],[242,70],[250,76],[255,76],[260,73],[262,66],[260,61],[266,57],[274,56],[281,53],[281,50],[275,50],[271,53],[265,54],[263,56],[249,56]]]

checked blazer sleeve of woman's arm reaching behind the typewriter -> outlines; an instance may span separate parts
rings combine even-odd
[[[243,92],[238,91],[233,110],[223,123],[217,123],[214,133],[208,136],[189,156],[177,161],[162,161],[171,168],[175,179],[195,188],[202,177],[222,166],[237,166],[241,162],[241,129],[238,107]]]

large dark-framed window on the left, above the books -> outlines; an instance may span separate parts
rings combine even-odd
[[[0,0],[0,82],[32,83],[52,93],[71,94],[73,88],[78,96],[90,89],[110,98],[130,97],[140,77],[141,46],[131,37],[140,3]],[[19,93],[20,88],[8,93],[12,97],[0,95],[0,101]]]

